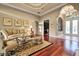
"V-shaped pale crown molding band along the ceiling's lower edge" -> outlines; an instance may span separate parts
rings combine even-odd
[[[30,11],[30,10],[25,10],[25,9],[23,9],[23,8],[19,8],[19,7],[17,7],[17,6],[14,6],[14,5],[11,5],[11,4],[8,4],[8,3],[3,3],[2,5],[8,6],[8,7],[11,7],[11,8],[15,8],[15,9],[17,9],[17,10],[19,10],[19,11],[24,11],[24,12],[26,12],[26,13],[30,13],[30,14],[33,14],[33,15],[36,15],[36,16],[44,16],[45,14],[48,14],[49,12],[52,12],[52,11],[54,11],[54,10],[56,10],[56,9],[58,9],[58,8],[60,8],[60,7],[62,7],[62,6],[64,6],[64,5],[66,5],[66,4],[67,4],[67,3],[61,4],[61,5],[59,5],[59,6],[56,6],[55,8],[49,9],[48,11],[43,12],[43,13],[41,13],[41,14],[38,14],[38,13],[33,12],[33,11]]]

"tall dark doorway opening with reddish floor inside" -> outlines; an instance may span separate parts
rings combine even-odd
[[[44,40],[49,41],[49,20],[44,20]]]

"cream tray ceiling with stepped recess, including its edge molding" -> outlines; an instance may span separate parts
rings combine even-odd
[[[32,13],[34,15],[42,16],[57,8],[64,6],[64,3],[4,3],[11,8],[16,8],[18,10]]]

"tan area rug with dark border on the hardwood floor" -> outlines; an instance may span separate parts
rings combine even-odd
[[[15,55],[16,56],[29,56],[29,55],[47,47],[47,46],[49,46],[49,45],[51,45],[51,43],[44,41],[43,44],[36,45],[36,46],[33,46],[29,49],[22,50],[20,52],[17,52]]]

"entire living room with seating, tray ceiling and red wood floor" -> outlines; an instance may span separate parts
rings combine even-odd
[[[1,3],[0,55],[79,55],[78,10],[78,3]]]

